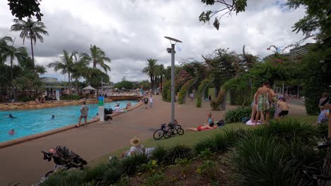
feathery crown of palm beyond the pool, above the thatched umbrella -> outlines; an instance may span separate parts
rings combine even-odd
[[[110,58],[106,57],[105,52],[95,45],[91,45],[90,52],[91,55],[86,53],[82,54],[84,60],[91,61],[93,63],[93,68],[96,68],[96,66],[99,65],[105,70],[105,73],[107,73],[107,70],[110,70],[110,67],[105,62],[110,63]]]

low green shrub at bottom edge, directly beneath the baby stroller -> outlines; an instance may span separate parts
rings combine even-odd
[[[83,171],[78,170],[69,170],[69,171],[60,171],[50,175],[45,182],[42,182],[41,186],[59,186],[59,185],[68,185],[68,186],[81,186],[83,185]]]

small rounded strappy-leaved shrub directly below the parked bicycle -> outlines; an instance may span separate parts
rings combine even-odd
[[[177,144],[175,147],[168,149],[165,161],[169,164],[173,164],[176,159],[191,159],[192,155],[192,149],[190,149],[190,147]]]

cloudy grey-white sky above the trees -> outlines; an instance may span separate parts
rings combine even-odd
[[[42,1],[42,22],[50,35],[35,45],[35,59],[46,66],[57,61],[63,49],[88,52],[95,44],[112,59],[108,74],[112,82],[118,82],[123,76],[133,81],[148,79],[141,74],[148,58],[170,65],[165,50],[170,42],[164,36],[182,40],[176,45],[177,63],[187,58],[202,61],[202,55],[219,48],[241,54],[244,44],[247,52],[267,56],[272,54],[266,50],[271,44],[287,46],[303,38],[291,32],[291,26],[304,16],[304,7],[288,10],[285,1],[248,0],[247,11],[223,16],[219,30],[199,23],[199,14],[210,8],[199,0]],[[23,45],[19,33],[9,31],[13,16],[7,1],[0,2],[0,18],[0,37],[16,37],[16,46]],[[29,43],[25,46],[30,52]],[[52,69],[44,76],[65,78]]]

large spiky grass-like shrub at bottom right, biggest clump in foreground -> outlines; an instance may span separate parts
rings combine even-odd
[[[294,185],[294,163],[277,137],[250,135],[231,153],[241,185]]]

